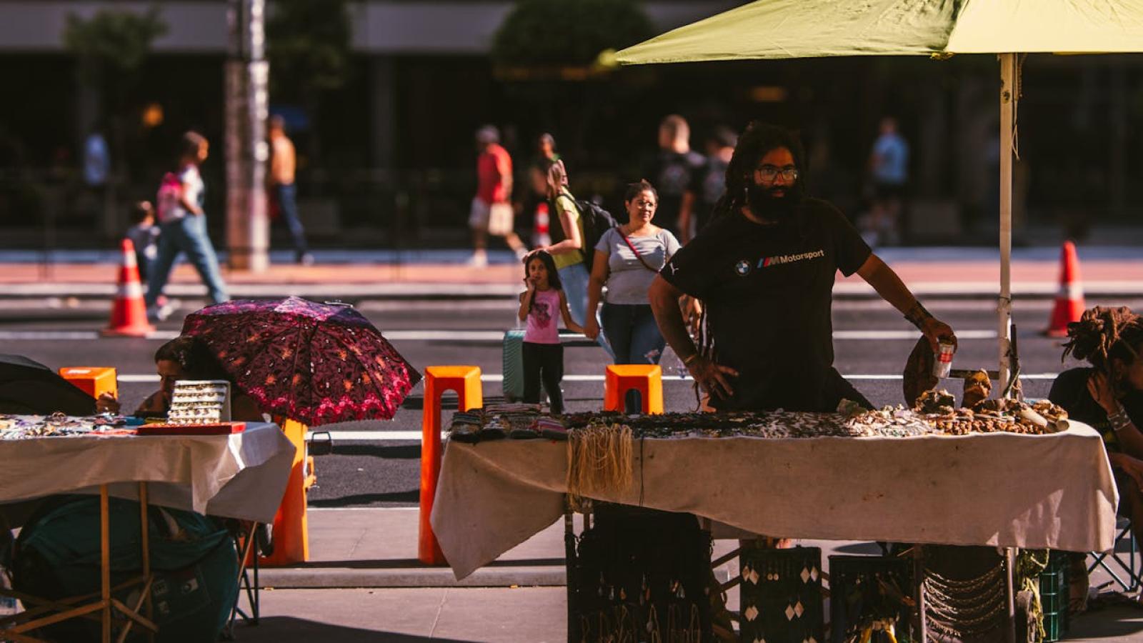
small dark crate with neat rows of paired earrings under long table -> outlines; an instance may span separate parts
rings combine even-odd
[[[822,550],[744,548],[738,641],[825,643]]]

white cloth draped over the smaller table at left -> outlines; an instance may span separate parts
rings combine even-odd
[[[137,499],[137,483],[146,482],[154,505],[272,522],[293,460],[293,443],[269,423],[247,423],[229,436],[0,440],[0,505],[97,492],[102,484],[112,495]],[[16,514],[9,519],[17,522]]]

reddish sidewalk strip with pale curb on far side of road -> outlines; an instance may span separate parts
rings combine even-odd
[[[878,251],[921,296],[996,296],[1000,267],[986,248],[885,248]],[[110,299],[118,275],[113,253],[53,253],[55,263],[37,263],[37,253],[0,252],[0,297]],[[234,297],[299,295],[314,299],[514,297],[522,269],[507,252],[490,253],[486,268],[465,264],[463,251],[328,252],[314,265],[274,263],[261,273],[225,271]],[[1088,295],[1143,295],[1143,248],[1080,249],[1081,285]],[[1015,296],[1052,297],[1058,291],[1058,249],[1018,248],[1013,253]],[[168,294],[201,297],[206,289],[190,265],[176,268]],[[861,278],[838,279],[838,297],[877,296]]]

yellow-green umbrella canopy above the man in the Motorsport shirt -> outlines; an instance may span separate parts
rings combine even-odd
[[[1143,48],[1143,0],[758,0],[617,54],[624,64]]]

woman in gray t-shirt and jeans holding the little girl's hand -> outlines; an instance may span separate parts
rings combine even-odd
[[[599,305],[607,284],[600,315],[604,335],[615,351],[616,364],[658,364],[665,342],[655,324],[647,289],[655,275],[679,249],[670,230],[652,224],[658,207],[658,193],[647,181],[632,183],[623,197],[628,222],[612,228],[596,244],[596,257],[588,285],[588,310]],[[599,336],[594,315],[586,315],[584,334]],[[632,396],[626,411],[639,411]]]

